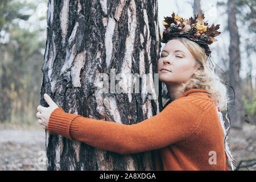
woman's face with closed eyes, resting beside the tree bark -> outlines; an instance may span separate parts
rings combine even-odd
[[[195,64],[196,59],[184,44],[172,39],[166,43],[158,60],[159,80],[167,85],[188,81],[196,70]]]

